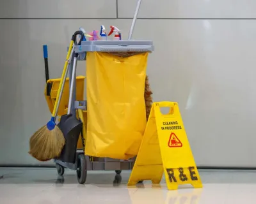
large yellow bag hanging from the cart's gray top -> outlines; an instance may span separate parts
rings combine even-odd
[[[129,159],[138,154],[147,123],[147,57],[148,53],[118,57],[87,52],[86,155]]]

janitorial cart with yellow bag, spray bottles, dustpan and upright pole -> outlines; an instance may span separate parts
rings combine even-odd
[[[80,184],[86,181],[88,170],[115,170],[117,174],[130,170],[138,154],[147,124],[147,57],[154,50],[152,41],[131,40],[140,4],[141,0],[128,40],[121,39],[115,26],[111,26],[109,35],[115,33],[111,40],[103,26],[102,38],[93,31],[90,41],[84,31],[77,31],[74,44],[68,47],[69,78],[65,70],[64,80],[47,81],[45,98],[52,114],[61,117],[58,128],[65,138],[54,162],[59,175],[65,168],[76,170]],[[86,61],[86,77],[76,77],[77,61]]]

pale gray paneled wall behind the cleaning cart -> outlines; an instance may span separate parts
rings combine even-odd
[[[0,164],[45,164],[27,153],[29,137],[51,117],[42,45],[51,78],[60,77],[72,33],[116,25],[127,38],[136,0],[118,0],[117,10],[115,0],[0,5]],[[256,166],[255,9],[253,0],[142,1],[134,38],[156,46],[148,59],[154,100],[179,102],[200,166]]]

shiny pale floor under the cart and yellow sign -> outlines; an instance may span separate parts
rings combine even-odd
[[[121,176],[113,171],[88,171],[85,185],[77,184],[71,170],[65,170],[63,177],[54,168],[0,168],[0,174],[4,175],[0,179],[1,204],[256,203],[256,171],[201,170],[203,189],[180,186],[178,191],[167,191],[164,180],[158,186],[147,181],[127,187],[130,171]]]

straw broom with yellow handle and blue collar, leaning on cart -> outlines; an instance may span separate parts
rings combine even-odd
[[[68,54],[63,68],[63,73],[61,75],[56,102],[54,103],[54,109],[52,111],[51,120],[45,126],[38,129],[38,131],[36,131],[34,135],[31,136],[29,141],[29,154],[35,157],[35,159],[38,159],[39,161],[48,161],[50,159],[59,157],[61,154],[61,150],[65,145],[65,138],[60,128],[56,126],[55,119],[58,112],[58,105],[60,105],[61,94],[63,92],[63,82],[67,77],[68,61],[71,52],[74,51],[73,45],[74,41],[76,40],[76,33],[72,36],[72,40],[70,41]]]

